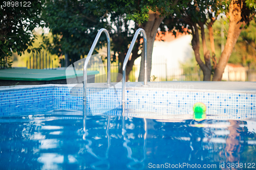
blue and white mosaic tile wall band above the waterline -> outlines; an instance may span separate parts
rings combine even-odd
[[[0,116],[55,109],[82,110],[82,88],[49,87],[0,91]],[[126,90],[126,109],[164,114],[191,114],[196,102],[203,102],[207,114],[255,115],[256,94],[163,90]],[[121,89],[87,89],[88,110],[121,109]]]

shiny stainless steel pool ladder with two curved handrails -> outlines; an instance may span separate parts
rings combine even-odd
[[[106,29],[100,29],[99,32],[97,33],[94,41],[93,41],[93,45],[88,53],[88,56],[86,58],[86,61],[84,62],[84,66],[83,66],[83,110],[86,111],[86,87],[87,87],[87,66],[88,66],[88,63],[89,63],[89,60],[91,59],[92,57],[92,53],[94,51],[94,48],[99,40],[99,37],[101,35],[101,33],[104,32],[105,35],[106,35],[106,39],[107,39],[107,60],[108,60],[108,63],[107,63],[107,83],[105,85],[108,85],[110,86],[111,85],[111,77],[110,77],[110,34],[108,32],[108,30]],[[136,32],[135,32],[135,35],[133,37],[133,40],[132,40],[132,43],[128,49],[128,52],[124,58],[124,62],[123,62],[123,67],[122,67],[122,109],[123,109],[123,115],[124,115],[124,111],[125,111],[125,78],[126,78],[126,75],[125,75],[125,72],[126,72],[126,65],[127,65],[127,62],[129,60],[129,57],[132,53],[132,50],[133,50],[133,47],[134,47],[134,44],[138,38],[138,35],[142,33],[143,35],[143,52],[144,52],[144,85],[142,85],[143,87],[148,87],[149,85],[147,85],[147,39],[146,39],[146,33],[143,29],[138,29]]]

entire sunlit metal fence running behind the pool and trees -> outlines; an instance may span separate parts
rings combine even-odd
[[[61,66],[65,60],[59,59]],[[73,61],[71,61],[73,62]],[[104,64],[91,64],[88,70],[98,70],[99,74],[95,77],[95,82],[106,82],[106,62]],[[116,82],[120,65],[112,63],[111,81]],[[33,69],[53,69],[53,60],[50,55],[44,52],[32,54],[27,61],[27,68]],[[81,67],[82,69],[82,67]],[[129,75],[130,82],[137,82],[139,77],[140,65],[134,65]],[[199,66],[168,68],[166,63],[153,63],[151,71],[151,81],[203,81],[203,72]],[[256,69],[243,67],[241,65],[227,65],[222,76],[222,81],[256,81]]]

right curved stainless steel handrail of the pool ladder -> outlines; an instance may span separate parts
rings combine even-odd
[[[144,44],[143,44],[143,51],[144,51],[144,85],[142,85],[142,86],[149,86],[149,85],[147,85],[147,70],[146,70],[146,59],[147,59],[147,57],[146,57],[146,45],[147,45],[146,32],[143,29],[140,28],[140,29],[138,29],[135,32],[135,35],[134,35],[133,40],[132,40],[132,43],[131,43],[131,45],[129,47],[129,50],[128,50],[128,52],[127,52],[127,54],[126,54],[126,56],[124,58],[124,62],[123,62],[123,68],[122,68],[122,76],[123,76],[123,79],[122,79],[122,104],[123,104],[123,109],[124,109],[124,105],[125,105],[124,98],[125,98],[125,72],[126,72],[126,65],[127,65],[128,60],[129,60],[129,57],[130,57],[130,55],[132,53],[133,46],[134,46],[134,44],[136,42],[136,39],[137,39],[137,37],[138,37],[140,32],[143,35],[143,42],[144,42]]]

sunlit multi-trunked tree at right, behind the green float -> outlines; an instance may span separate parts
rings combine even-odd
[[[232,53],[242,29],[248,25],[249,21],[254,17],[255,8],[250,9],[246,6],[245,1],[184,1],[178,4],[179,8],[175,11],[175,15],[169,16],[167,19],[167,27],[173,32],[186,31],[193,35],[191,44],[195,53],[196,60],[203,71],[204,81],[210,81],[211,75],[214,73],[212,81],[220,81],[224,68]],[[214,43],[214,30],[212,25],[217,17],[226,14],[229,23],[227,33],[227,41],[224,51],[217,63]],[[207,48],[205,38],[205,28],[209,30],[211,57]],[[200,57],[200,32],[202,39],[204,61]],[[212,65],[211,65],[212,60]]]

